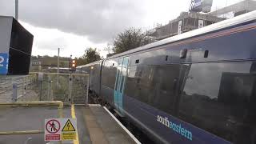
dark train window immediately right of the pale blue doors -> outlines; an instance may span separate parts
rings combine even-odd
[[[127,77],[125,94],[172,114],[178,75],[179,65],[134,67]]]

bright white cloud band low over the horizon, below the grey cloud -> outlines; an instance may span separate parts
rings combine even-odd
[[[58,29],[46,29],[42,27],[32,26],[29,23],[21,22],[22,26],[34,35],[33,55],[50,55],[58,54],[58,47],[61,48],[60,55],[70,57],[80,57],[84,54],[84,50],[88,47],[97,47],[101,55],[106,57],[103,47],[106,43],[90,42],[85,36],[78,36],[62,32]]]

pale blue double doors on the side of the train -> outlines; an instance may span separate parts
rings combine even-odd
[[[114,106],[122,111],[122,97],[126,82],[126,74],[129,63],[129,57],[118,59],[118,70],[114,85]]]

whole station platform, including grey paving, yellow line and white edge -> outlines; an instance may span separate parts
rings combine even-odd
[[[62,143],[134,144],[139,143],[112,114],[99,105],[64,106],[63,118],[77,118],[78,140]],[[72,114],[74,114],[72,116]],[[58,106],[0,107],[0,131],[44,130],[45,118],[58,118]],[[0,144],[32,144],[44,141],[44,134],[0,135]],[[52,143],[52,142],[51,142]],[[58,143],[58,142],[57,142]]]

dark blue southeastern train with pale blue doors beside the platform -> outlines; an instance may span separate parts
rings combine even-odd
[[[256,143],[256,12],[78,66],[156,143]]]

